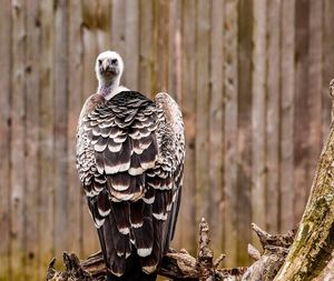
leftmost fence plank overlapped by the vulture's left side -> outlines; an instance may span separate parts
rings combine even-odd
[[[71,243],[67,251],[73,251],[84,254],[82,244],[82,194],[81,184],[76,169],[76,129],[80,114],[82,100],[82,69],[84,69],[84,46],[81,37],[82,24],[81,2],[69,2],[69,90],[68,90],[68,192],[69,192],[69,213],[68,220],[70,228],[68,237],[71,238]],[[84,207],[85,208],[85,207]]]

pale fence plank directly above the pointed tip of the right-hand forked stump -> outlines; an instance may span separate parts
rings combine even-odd
[[[262,228],[266,225],[266,0],[254,1],[252,53],[252,221]]]

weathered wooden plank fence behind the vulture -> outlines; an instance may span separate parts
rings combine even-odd
[[[195,253],[204,217],[225,265],[248,264],[250,222],[286,232],[303,213],[331,121],[333,27],[331,0],[1,0],[0,280],[99,249],[75,134],[107,49],[126,87],[183,109],[174,247]]]

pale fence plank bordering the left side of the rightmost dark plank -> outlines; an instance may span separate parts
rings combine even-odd
[[[281,10],[281,190],[279,229],[293,227],[294,203],[294,80],[295,1],[283,0]]]

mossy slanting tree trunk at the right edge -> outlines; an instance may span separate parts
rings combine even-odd
[[[334,82],[330,90],[334,97]],[[314,280],[331,260],[334,250],[334,122],[322,151],[296,239],[275,278]]]

